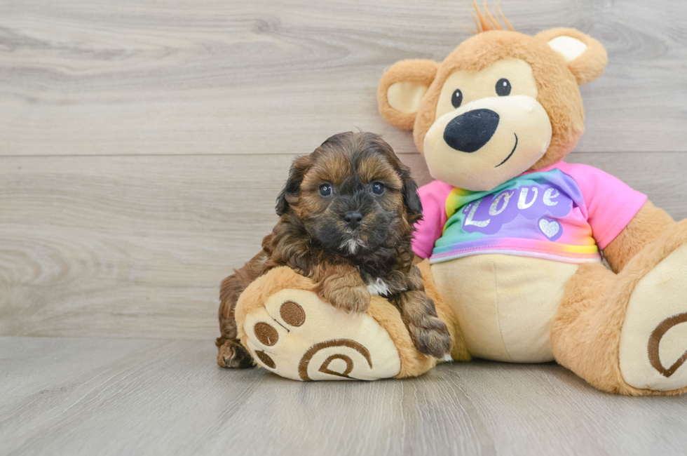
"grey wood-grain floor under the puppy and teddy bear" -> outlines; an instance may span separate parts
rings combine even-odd
[[[687,445],[687,396],[612,396],[554,364],[299,383],[214,358],[210,341],[0,338],[0,455],[682,455]]]

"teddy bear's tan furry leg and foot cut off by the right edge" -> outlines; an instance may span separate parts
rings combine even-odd
[[[673,224],[617,275],[580,266],[552,321],[559,363],[613,393],[687,391],[686,228]]]

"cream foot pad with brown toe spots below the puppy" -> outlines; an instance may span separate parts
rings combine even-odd
[[[293,380],[377,380],[400,372],[388,333],[367,314],[345,314],[315,293],[285,289],[245,316],[259,366]]]

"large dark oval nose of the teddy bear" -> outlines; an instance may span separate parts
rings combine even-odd
[[[491,140],[496,127],[496,112],[491,109],[472,109],[451,119],[444,128],[444,141],[460,152],[475,152]]]

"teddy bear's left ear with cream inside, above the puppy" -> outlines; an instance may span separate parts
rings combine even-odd
[[[437,74],[432,60],[401,60],[379,81],[379,113],[396,128],[412,130],[420,101]]]

